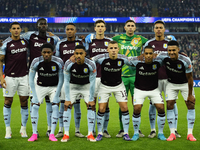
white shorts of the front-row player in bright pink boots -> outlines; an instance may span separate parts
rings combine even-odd
[[[40,86],[35,85],[35,90],[39,103],[43,103],[45,96],[49,96],[50,102],[53,102],[53,98],[56,93],[57,86]],[[60,99],[58,100],[60,102]]]

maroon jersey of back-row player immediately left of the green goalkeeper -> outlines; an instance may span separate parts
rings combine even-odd
[[[104,37],[103,39],[93,39],[91,43],[86,43],[86,51],[89,55],[89,58],[92,58],[99,54],[108,53],[108,43],[112,41],[111,38]],[[97,77],[101,77],[101,65],[96,64],[97,66]]]

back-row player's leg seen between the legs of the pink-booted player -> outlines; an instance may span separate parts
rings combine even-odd
[[[51,116],[52,116],[52,104],[50,102],[49,96],[45,96],[46,101],[46,113],[47,113],[47,133],[46,135],[49,136],[51,132]]]

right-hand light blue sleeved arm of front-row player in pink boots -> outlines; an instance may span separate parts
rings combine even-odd
[[[56,89],[56,93],[53,99],[54,103],[59,103],[60,99],[59,99],[59,95],[61,92],[61,88],[63,85],[63,81],[64,81],[64,75],[63,75],[63,61],[62,63],[59,64],[59,71],[58,71],[58,85],[57,85],[57,89]]]

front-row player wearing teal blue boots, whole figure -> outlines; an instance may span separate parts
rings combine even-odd
[[[141,109],[143,102],[148,97],[158,110],[158,139],[166,140],[163,134],[165,125],[164,101],[160,90],[158,89],[158,70],[162,64],[162,60],[157,57],[153,60],[153,48],[146,46],[144,48],[144,61],[138,61],[137,57],[130,59],[131,63],[136,66],[136,80],[134,88],[134,112],[133,112],[133,141],[139,139],[139,126],[141,122]]]

